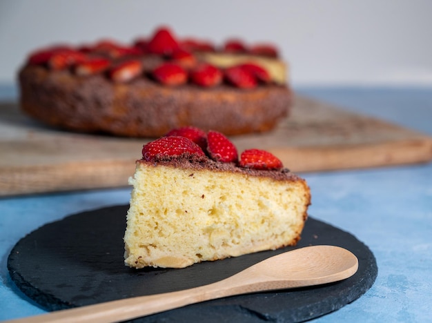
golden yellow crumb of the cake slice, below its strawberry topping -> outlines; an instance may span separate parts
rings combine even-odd
[[[127,266],[184,268],[294,245],[310,191],[286,180],[137,162],[124,236]]]

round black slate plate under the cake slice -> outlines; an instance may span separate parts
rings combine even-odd
[[[296,247],[264,251],[184,269],[123,264],[128,206],[70,215],[23,237],[8,257],[17,286],[54,311],[120,298],[165,293],[222,280],[261,260],[316,244],[341,246],[359,260],[342,282],[286,291],[226,297],[142,317],[133,322],[300,322],[340,309],[363,295],[377,276],[373,253],[350,233],[309,217]]]

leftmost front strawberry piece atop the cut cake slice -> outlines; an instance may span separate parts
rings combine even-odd
[[[164,156],[181,156],[184,154],[197,157],[205,155],[195,142],[177,136],[161,137],[145,144],[142,149],[142,156],[146,161],[155,161]]]

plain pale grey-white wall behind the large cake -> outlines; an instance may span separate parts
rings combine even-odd
[[[0,83],[30,50],[168,24],[177,35],[273,41],[294,86],[432,86],[431,0],[0,0]]]

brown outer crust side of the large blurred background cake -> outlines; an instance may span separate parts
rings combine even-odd
[[[175,88],[141,77],[116,84],[104,75],[25,66],[19,72],[21,108],[51,126],[85,133],[159,137],[193,125],[226,135],[271,130],[288,115],[292,93],[268,84],[251,90],[221,84]]]

